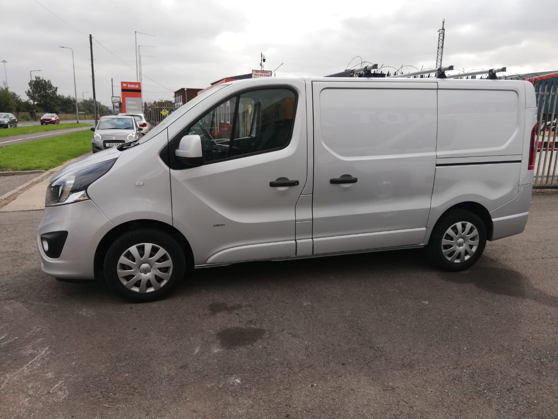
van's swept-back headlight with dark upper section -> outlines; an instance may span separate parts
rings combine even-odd
[[[46,188],[45,206],[56,206],[85,201],[87,188],[99,177],[106,174],[116,158],[82,167],[74,171],[54,175]]]

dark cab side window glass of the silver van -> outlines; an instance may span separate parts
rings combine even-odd
[[[277,150],[290,139],[295,99],[289,89],[248,91],[218,104],[188,133],[200,136],[206,162]]]

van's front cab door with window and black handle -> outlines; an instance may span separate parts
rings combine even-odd
[[[307,167],[305,82],[217,96],[193,108],[180,132],[169,129],[173,224],[196,265],[294,256]],[[203,165],[173,160],[185,134],[201,137]]]

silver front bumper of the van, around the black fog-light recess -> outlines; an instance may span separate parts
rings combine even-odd
[[[37,247],[41,268],[46,274],[67,280],[93,280],[93,262],[100,240],[114,225],[92,200],[45,208],[39,229]],[[68,232],[60,257],[46,256],[41,234]]]

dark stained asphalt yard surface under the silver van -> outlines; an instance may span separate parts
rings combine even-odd
[[[421,251],[195,271],[134,305],[0,214],[0,417],[556,418],[558,194],[468,272]]]

